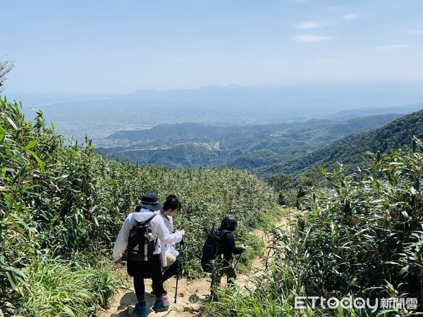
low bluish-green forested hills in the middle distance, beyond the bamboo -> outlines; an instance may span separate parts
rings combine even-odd
[[[116,132],[110,138],[133,145],[98,148],[97,151],[140,164],[170,168],[240,168],[266,178],[268,166],[307,154],[353,132],[378,128],[398,116],[367,116],[341,123],[314,119],[241,127],[195,123],[157,125],[147,130]]]

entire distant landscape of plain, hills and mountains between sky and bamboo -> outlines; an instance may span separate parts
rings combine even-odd
[[[405,149],[412,135],[422,136],[423,102],[415,103],[422,100],[421,85],[398,82],[230,85],[140,90],[39,108],[56,131],[78,140],[87,135],[114,158],[242,168],[266,178],[336,162],[353,167],[365,151]]]

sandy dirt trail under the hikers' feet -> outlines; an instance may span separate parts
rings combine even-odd
[[[277,225],[281,225],[278,223]],[[257,230],[256,234],[262,237],[264,245],[267,246],[266,235],[264,232]],[[252,280],[254,277],[262,274],[263,262],[262,259],[256,258],[252,261],[252,270],[248,274],[238,274],[237,284],[240,287],[254,287]],[[124,269],[124,268],[123,268]],[[226,278],[222,278],[222,282],[226,282]],[[128,277],[128,285],[133,285],[132,278]],[[161,313],[155,313],[152,310],[155,297],[151,294],[151,280],[145,280],[145,299],[147,302],[147,314],[148,316],[161,317],[161,316],[181,316],[181,317],[193,317],[198,314],[200,299],[205,299],[210,294],[210,279],[199,278],[197,280],[187,280],[186,278],[179,278],[178,280],[178,294],[175,300],[175,286],[176,278],[170,278],[164,282],[164,288],[168,292],[168,299],[171,302],[171,308],[168,311]],[[118,294],[114,297],[114,302],[109,306],[106,311],[99,309],[97,317],[135,317],[137,316],[134,312],[134,306],[137,299],[135,297],[135,290],[133,286],[125,287],[122,286]]]

